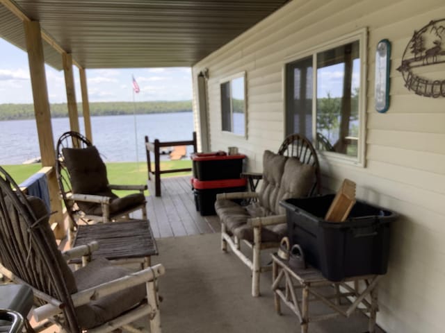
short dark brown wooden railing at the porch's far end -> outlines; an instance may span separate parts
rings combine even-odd
[[[186,172],[192,170],[192,168],[161,170],[161,148],[175,146],[193,146],[193,152],[196,153],[196,132],[193,132],[193,139],[189,141],[159,142],[159,139],[155,139],[154,142],[149,142],[148,136],[145,135],[145,152],[147,153],[148,179],[152,179],[150,175],[154,176],[154,192],[156,196],[161,196],[161,174],[172,172]],[[154,154],[154,171],[152,171],[150,153]]]

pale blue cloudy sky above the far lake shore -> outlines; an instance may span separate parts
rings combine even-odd
[[[45,65],[49,103],[66,103],[63,71]],[[81,102],[79,70],[73,67],[76,99]],[[135,101],[185,101],[192,99],[188,67],[87,69],[90,102],[133,101],[132,76],[140,87]],[[0,104],[33,103],[26,52],[0,38]]]

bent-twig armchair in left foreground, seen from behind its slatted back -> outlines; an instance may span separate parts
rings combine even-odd
[[[0,273],[33,289],[35,330],[59,325],[65,332],[111,332],[138,318],[161,332],[156,278],[161,264],[132,273],[96,259],[72,272],[66,260],[88,259],[97,243],[60,253],[40,198],[25,196],[0,167]],[[84,262],[88,260],[83,260]]]

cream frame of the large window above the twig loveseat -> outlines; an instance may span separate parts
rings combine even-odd
[[[325,42],[314,46],[305,51],[295,53],[292,56],[284,58],[282,66],[282,78],[283,78],[283,114],[284,114],[284,133],[286,133],[287,127],[287,83],[286,83],[286,65],[291,62],[302,60],[309,56],[312,56],[312,136],[314,137],[314,147],[316,147],[316,103],[317,103],[317,53],[334,49],[338,46],[348,44],[351,42],[359,41],[359,58],[360,58],[360,89],[359,89],[359,136],[357,144],[357,157],[351,157],[341,153],[334,153],[330,151],[317,150],[319,155],[332,160],[333,162],[342,162],[346,164],[353,164],[358,167],[365,166],[365,138],[366,138],[366,91],[367,91],[367,47],[368,47],[368,33],[366,28],[361,28],[352,33],[342,35],[341,37],[334,38],[329,42]]]

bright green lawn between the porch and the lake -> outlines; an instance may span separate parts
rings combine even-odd
[[[162,161],[161,170],[191,168],[191,160]],[[20,184],[41,169],[40,164],[17,164],[2,166]],[[154,164],[152,164],[154,170]],[[146,162],[106,163],[108,182],[115,185],[145,185],[148,180]],[[165,173],[162,178],[190,175],[190,172]],[[125,196],[134,191],[118,191],[118,196]],[[148,192],[146,191],[146,195]]]

